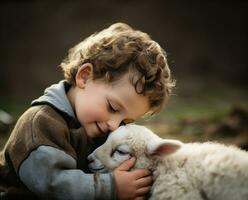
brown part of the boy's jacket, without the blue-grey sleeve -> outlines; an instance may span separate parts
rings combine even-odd
[[[78,168],[86,170],[92,142],[83,128],[70,129],[63,117],[48,105],[34,106],[18,120],[0,153],[0,189],[25,188],[18,177],[20,164],[41,145],[65,151],[77,160]]]

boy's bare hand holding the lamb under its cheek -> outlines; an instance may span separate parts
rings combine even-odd
[[[114,170],[117,196],[120,200],[145,199],[151,189],[152,176],[149,170],[128,171],[134,163],[135,158],[131,158]]]

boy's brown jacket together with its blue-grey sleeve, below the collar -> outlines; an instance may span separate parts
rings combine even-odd
[[[115,199],[111,173],[86,174],[87,156],[101,139],[90,140],[57,104],[38,104],[20,117],[0,153],[0,199]]]

